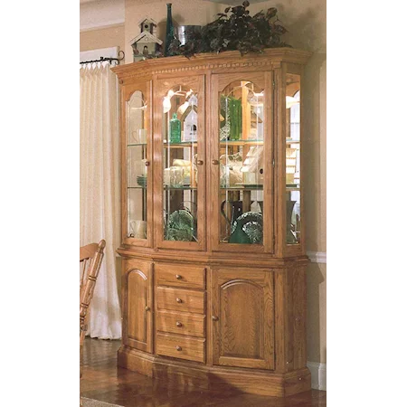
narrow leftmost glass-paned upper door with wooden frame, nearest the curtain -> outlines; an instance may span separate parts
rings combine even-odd
[[[122,242],[153,245],[152,83],[140,80],[121,88]]]

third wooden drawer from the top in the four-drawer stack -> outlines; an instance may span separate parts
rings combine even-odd
[[[158,311],[156,314],[157,331],[204,337],[204,315],[180,314],[178,312]]]

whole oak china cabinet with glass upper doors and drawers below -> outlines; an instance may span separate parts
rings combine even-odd
[[[310,388],[309,56],[275,48],[112,68],[122,113],[120,366],[207,389]]]

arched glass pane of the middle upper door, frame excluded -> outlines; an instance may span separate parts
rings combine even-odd
[[[185,86],[168,90],[163,99],[163,208],[165,241],[198,241],[199,95]]]

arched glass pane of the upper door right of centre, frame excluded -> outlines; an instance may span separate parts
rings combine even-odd
[[[264,91],[233,81],[219,100],[221,242],[263,244]]]

